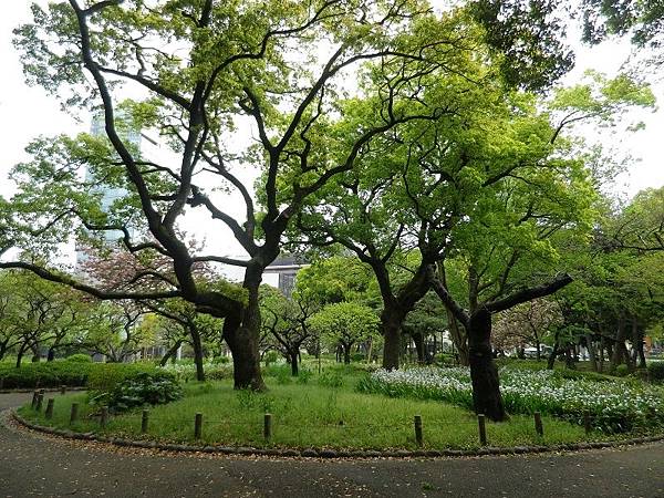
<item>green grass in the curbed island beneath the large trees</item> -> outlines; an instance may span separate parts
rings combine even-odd
[[[113,416],[107,427],[101,429],[98,419],[89,417],[92,407],[84,394],[55,396],[51,421],[30,406],[19,412],[27,418],[60,428],[175,443],[194,442],[194,417],[200,412],[201,444],[338,449],[415,449],[413,416],[421,415],[425,449],[479,447],[477,419],[470,412],[434,401],[355,393],[353,386],[357,380],[357,374],[345,376],[344,385],[339,388],[321,386],[315,378],[304,385],[270,382],[270,391],[264,394],[234,391],[228,381],[189,383],[183,400],[151,408],[146,436],[139,434],[139,411]],[[81,419],[70,427],[72,402],[80,403]],[[272,414],[270,443],[262,435],[266,412]],[[519,446],[588,439],[581,427],[562,421],[543,417],[543,425],[542,439],[536,435],[531,417],[512,416],[508,423],[488,423],[488,442],[491,446]]]

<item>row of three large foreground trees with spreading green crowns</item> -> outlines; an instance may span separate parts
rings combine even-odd
[[[2,251],[41,259],[0,267],[102,300],[178,299],[224,319],[236,387],[261,390],[263,270],[284,243],[340,246],[375,279],[384,366],[398,367],[406,317],[433,289],[467,338],[476,409],[502,419],[491,318],[569,284],[564,257],[596,224],[603,158],[573,126],[654,104],[625,75],[591,74],[547,97],[525,91],[571,62],[552,43],[556,3],[536,3],[442,13],[415,0],[33,7],[34,22],[15,31],[29,81],[70,108],[101,111],[106,137],[31,144],[32,159],[13,172],[18,194],[1,206]],[[122,101],[123,83],[146,97]],[[155,131],[170,159],[124,138],[138,128]],[[246,148],[242,131],[255,137]],[[259,175],[253,188],[242,169]],[[126,195],[103,209],[100,186]],[[207,212],[247,258],[189,243],[188,210]],[[72,230],[92,246],[122,232],[135,274],[108,288],[33,262]],[[240,267],[243,280],[201,278],[206,264]]]

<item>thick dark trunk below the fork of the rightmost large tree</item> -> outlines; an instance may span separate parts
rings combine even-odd
[[[491,313],[484,308],[478,309],[470,315],[468,325],[475,413],[484,414],[491,421],[505,421],[507,414],[500,395],[498,369],[491,354]]]

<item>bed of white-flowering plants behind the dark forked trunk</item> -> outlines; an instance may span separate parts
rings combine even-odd
[[[664,398],[654,387],[566,378],[557,371],[512,369],[501,369],[500,384],[510,413],[541,412],[579,424],[589,414],[593,426],[608,433],[664,425]],[[473,407],[470,371],[463,367],[380,370],[363,378],[357,390]]]

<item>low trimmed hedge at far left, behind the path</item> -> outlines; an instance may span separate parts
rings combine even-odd
[[[97,391],[112,390],[125,378],[141,372],[154,371],[148,363],[89,363],[79,361],[54,361],[25,363],[20,369],[0,363],[2,388],[70,387],[90,386]],[[92,384],[92,385],[90,385]]]

